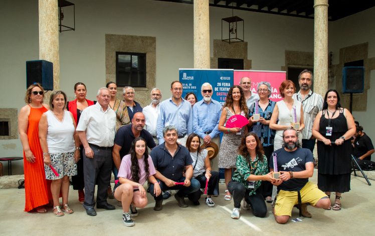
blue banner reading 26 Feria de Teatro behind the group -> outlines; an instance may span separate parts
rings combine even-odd
[[[228,91],[233,86],[233,70],[179,69],[179,81],[182,83],[182,97],[185,97],[186,93],[194,92],[198,101],[203,99],[202,84],[210,83],[214,90],[212,98],[224,105]]]

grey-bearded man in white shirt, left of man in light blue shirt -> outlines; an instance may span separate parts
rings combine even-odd
[[[145,129],[148,131],[151,135],[153,140],[155,141],[155,144],[158,145],[159,142],[157,140],[157,133],[156,133],[156,124],[157,124],[157,116],[160,113],[160,103],[161,100],[161,92],[158,88],[153,88],[151,90],[151,104],[144,107],[142,112],[144,114],[144,117],[146,118],[146,125]]]

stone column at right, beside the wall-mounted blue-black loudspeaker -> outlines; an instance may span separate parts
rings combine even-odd
[[[328,0],[314,0],[314,92],[328,90]]]

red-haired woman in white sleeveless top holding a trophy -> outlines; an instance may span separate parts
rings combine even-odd
[[[299,124],[299,128],[297,126],[294,128],[297,130],[299,143],[302,143],[301,130],[305,127],[303,122],[303,109],[301,102],[292,98],[295,91],[296,86],[293,81],[288,79],[284,80],[279,87],[280,95],[284,99],[276,102],[270,120],[270,129],[276,131],[273,145],[274,151],[283,146],[283,131],[289,127],[293,128],[295,123]]]

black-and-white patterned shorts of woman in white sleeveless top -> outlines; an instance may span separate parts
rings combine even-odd
[[[77,175],[77,164],[74,162],[74,152],[51,153],[51,165],[55,168],[59,176],[56,176],[49,166],[44,165],[46,179],[56,180],[64,176]]]

